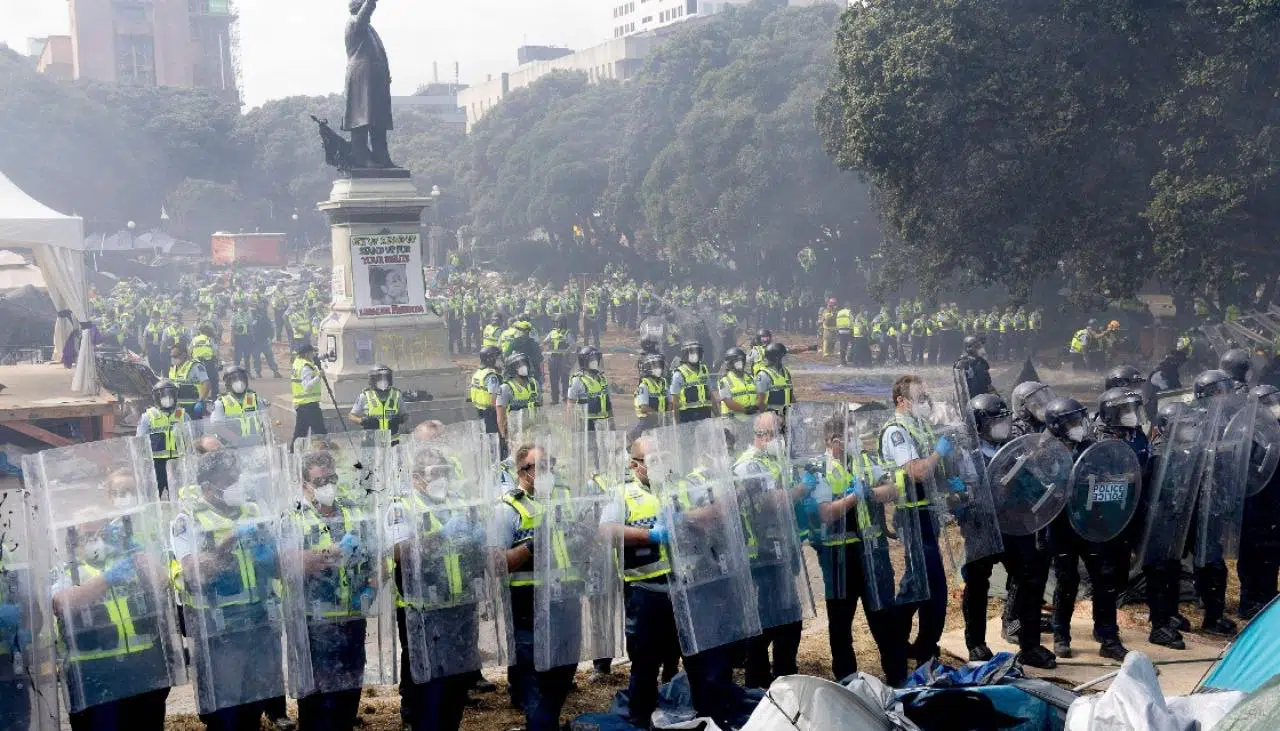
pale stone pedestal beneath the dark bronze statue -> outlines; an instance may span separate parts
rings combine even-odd
[[[420,220],[430,205],[408,172],[396,169],[339,178],[317,206],[332,233],[333,307],[316,347],[343,408],[379,364],[394,370],[401,390],[433,396],[408,411],[466,406],[462,373],[448,358],[444,320],[428,306],[422,282]],[[411,415],[410,425],[416,420]]]

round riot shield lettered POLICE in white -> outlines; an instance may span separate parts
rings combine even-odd
[[[1053,522],[1066,506],[1071,463],[1071,452],[1048,433],[1001,447],[984,470],[1000,530],[1032,535]]]

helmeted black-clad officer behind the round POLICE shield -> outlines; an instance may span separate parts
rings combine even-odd
[[[1093,434],[1088,411],[1074,398],[1056,398],[1044,408],[1044,426],[1073,452],[1074,458],[1089,448]],[[1068,512],[1059,513],[1048,527],[1050,550],[1053,554],[1053,654],[1069,658],[1071,650],[1071,613],[1080,589],[1079,563],[1093,581],[1093,636],[1101,643],[1098,654],[1123,661],[1129,650],[1120,643],[1116,623],[1116,598],[1128,580],[1129,547],[1120,535],[1105,543],[1082,538],[1071,526]]]

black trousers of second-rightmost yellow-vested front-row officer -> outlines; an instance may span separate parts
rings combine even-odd
[[[887,558],[887,557],[886,557]],[[858,672],[854,655],[854,615],[858,600],[865,594],[867,572],[863,565],[863,544],[823,545],[818,548],[818,562],[827,597],[827,636],[831,643],[831,675],[841,681]],[[870,611],[863,600],[867,626],[879,649],[881,668],[890,685],[906,681],[906,645],[896,641],[897,622],[892,608]]]

